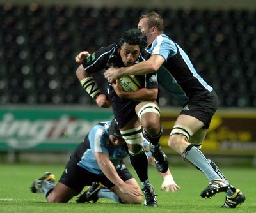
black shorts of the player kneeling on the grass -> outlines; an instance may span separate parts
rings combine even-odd
[[[133,178],[129,170],[125,168],[124,165],[122,168],[116,171],[118,172],[120,178],[124,181]],[[101,182],[109,189],[115,186],[105,175],[95,175],[81,166],[78,166],[77,161],[72,157],[68,161],[59,181],[77,193],[80,193],[85,186],[92,186],[92,182]]]

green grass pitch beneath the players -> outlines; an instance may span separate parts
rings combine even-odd
[[[172,173],[182,189],[175,193],[160,191],[161,177],[150,167],[149,175],[156,193],[159,207],[141,205],[121,205],[111,200],[100,198],[97,203],[76,203],[73,198],[68,203],[47,203],[44,195],[31,193],[31,182],[42,177],[45,172],[56,175],[56,180],[63,172],[63,165],[41,164],[2,164],[0,175],[0,211],[5,212],[255,212],[255,168],[221,168],[228,180],[241,189],[246,196],[243,205],[236,209],[220,209],[225,201],[225,193],[218,193],[211,199],[200,197],[200,192],[207,186],[206,177],[191,166],[177,166]],[[134,174],[133,168],[131,172]],[[136,175],[134,176],[136,177]],[[137,177],[136,177],[137,179]]]

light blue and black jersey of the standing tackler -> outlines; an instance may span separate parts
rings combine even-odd
[[[164,57],[165,63],[157,71],[158,82],[180,103],[184,104],[190,98],[204,96],[212,91],[212,87],[196,73],[184,50],[165,34],[157,36],[148,51],[152,55]],[[170,87],[168,82],[176,84],[177,87],[173,87],[173,85]],[[183,94],[180,91],[183,91]]]

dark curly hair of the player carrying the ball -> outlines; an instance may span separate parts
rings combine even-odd
[[[141,50],[143,47],[147,47],[147,37],[137,28],[128,29],[121,34],[118,40],[118,47],[121,47],[124,43],[138,45]]]

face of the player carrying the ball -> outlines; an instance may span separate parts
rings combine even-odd
[[[132,66],[140,55],[140,47],[124,43],[120,48],[120,55],[125,66]]]

